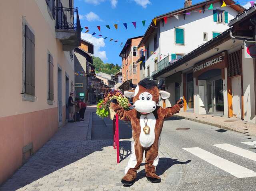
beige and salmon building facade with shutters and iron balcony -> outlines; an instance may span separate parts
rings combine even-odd
[[[66,123],[74,91],[73,49],[80,45],[73,3],[0,2],[0,184]],[[74,21],[76,28],[70,28]]]

